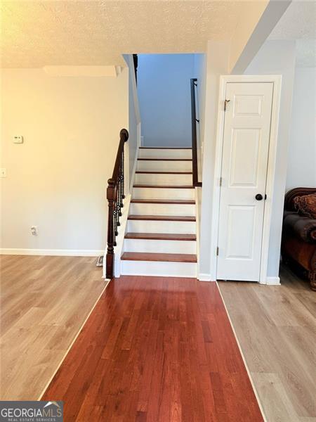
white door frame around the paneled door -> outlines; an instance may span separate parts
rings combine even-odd
[[[270,143],[268,155],[268,172],[265,193],[265,210],[263,215],[263,238],[261,248],[261,269],[259,283],[267,283],[268,271],[268,252],[270,238],[270,223],[272,213],[272,198],[275,182],[275,162],[277,155],[277,132],[279,126],[279,102],[281,94],[281,75],[227,75],[220,76],[219,94],[218,94],[218,120],[216,129],[216,153],[214,168],[214,184],[213,184],[213,205],[212,205],[212,227],[213,235],[211,236],[211,280],[217,279],[217,245],[218,245],[218,224],[220,212],[220,174],[222,170],[223,155],[223,134],[224,134],[224,102],[226,84],[229,82],[272,82],[272,111],[271,111],[271,127],[270,127]]]

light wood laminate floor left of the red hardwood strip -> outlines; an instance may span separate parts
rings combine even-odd
[[[105,288],[96,257],[0,257],[0,399],[38,399]]]

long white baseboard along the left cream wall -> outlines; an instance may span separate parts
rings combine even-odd
[[[15,249],[1,248],[0,255],[47,255],[61,257],[98,257],[104,250],[94,249]]]

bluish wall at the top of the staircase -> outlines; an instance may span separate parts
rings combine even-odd
[[[145,146],[191,146],[194,54],[140,54],[138,98]]]

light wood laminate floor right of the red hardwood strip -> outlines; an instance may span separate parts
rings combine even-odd
[[[286,268],[281,283],[218,285],[268,422],[315,422],[316,293]]]

